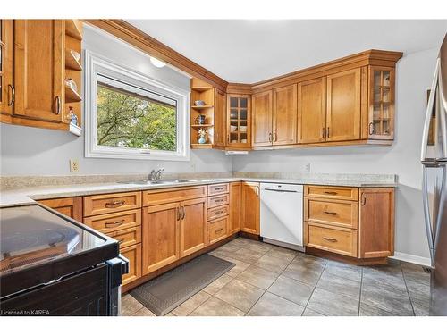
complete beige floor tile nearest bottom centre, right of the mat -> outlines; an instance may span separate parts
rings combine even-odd
[[[235,279],[220,289],[215,294],[215,297],[218,297],[243,312],[248,312],[251,306],[255,305],[257,299],[261,297],[264,292],[263,289],[258,289],[247,282]]]

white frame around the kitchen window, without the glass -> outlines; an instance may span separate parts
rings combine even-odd
[[[84,51],[84,122],[85,156],[95,158],[146,159],[164,161],[190,160],[190,92],[153,80],[147,75],[114,63],[102,55]],[[97,145],[97,81],[98,74],[129,83],[131,86],[166,96],[177,105],[177,150],[153,150]]]

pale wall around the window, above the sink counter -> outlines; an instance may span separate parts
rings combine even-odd
[[[169,67],[156,68],[147,54],[100,32],[86,27],[83,48],[103,54],[151,78],[183,89],[190,89],[190,78]],[[230,172],[232,160],[216,150],[193,150],[190,162],[112,160],[84,157],[84,137],[66,131],[41,130],[1,124],[2,175],[67,175],[69,159],[80,161],[80,174],[145,173],[158,166],[165,172]]]

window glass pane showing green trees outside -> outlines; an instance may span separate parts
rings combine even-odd
[[[174,100],[118,80],[98,78],[98,146],[177,150]]]

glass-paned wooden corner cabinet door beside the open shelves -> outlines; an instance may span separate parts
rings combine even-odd
[[[228,95],[227,146],[250,146],[250,103],[248,95]]]

